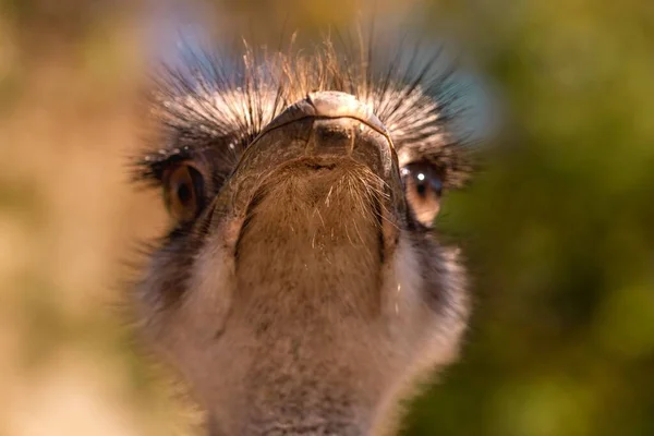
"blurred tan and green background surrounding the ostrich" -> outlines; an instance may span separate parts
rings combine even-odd
[[[147,65],[371,8],[462,53],[488,164],[439,218],[474,275],[463,356],[403,434],[654,435],[651,0],[0,0],[0,435],[192,433],[107,304],[165,228],[124,167]]]

